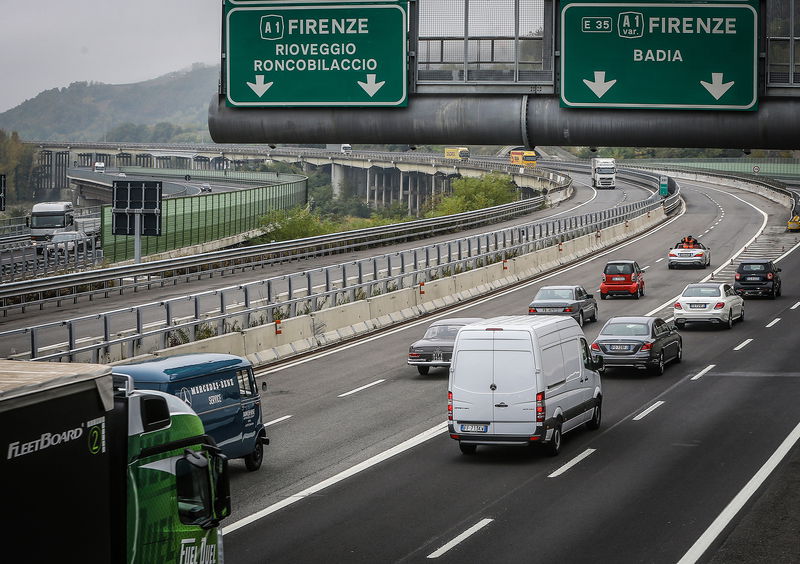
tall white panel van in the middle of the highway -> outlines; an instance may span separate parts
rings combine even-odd
[[[600,426],[602,360],[571,317],[495,317],[462,327],[450,365],[447,418],[461,452],[543,444]]]

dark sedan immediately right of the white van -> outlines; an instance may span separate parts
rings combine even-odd
[[[592,343],[592,354],[603,358],[605,368],[627,366],[661,375],[668,362],[681,361],[683,339],[660,317],[612,317]]]

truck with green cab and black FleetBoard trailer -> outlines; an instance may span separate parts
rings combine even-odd
[[[0,360],[0,448],[9,562],[222,561],[227,460],[179,398],[109,366]]]

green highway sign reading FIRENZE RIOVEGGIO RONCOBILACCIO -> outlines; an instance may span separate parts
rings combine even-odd
[[[406,106],[408,5],[378,2],[226,2],[228,105]]]

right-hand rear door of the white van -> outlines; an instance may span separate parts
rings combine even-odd
[[[492,366],[494,433],[530,435],[536,431],[536,371],[527,331],[494,332]]]

